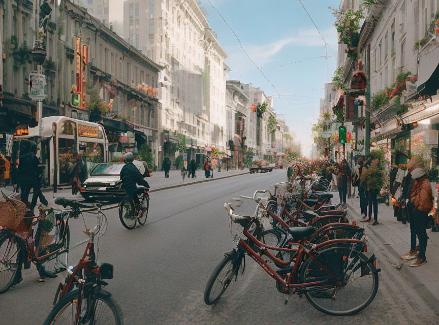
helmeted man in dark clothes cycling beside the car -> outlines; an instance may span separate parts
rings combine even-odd
[[[123,166],[122,170],[120,171],[120,179],[122,180],[121,188],[124,189],[127,192],[127,195],[133,199],[138,214],[141,214],[142,211],[140,210],[140,201],[139,197],[136,194],[138,189],[136,184],[148,188],[149,184],[143,179],[143,176],[142,174],[140,174],[139,169],[133,164],[134,155],[132,152],[127,152],[126,154],[124,154],[123,160],[125,161],[126,165]]]

